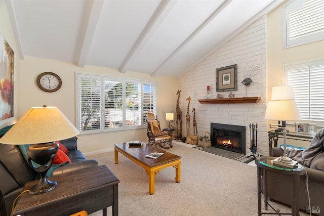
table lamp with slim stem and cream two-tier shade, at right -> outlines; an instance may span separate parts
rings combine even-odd
[[[272,88],[271,101],[268,101],[265,111],[267,120],[299,120],[301,115],[295,102],[293,87],[291,85],[278,85]],[[273,125],[270,124],[270,128]],[[276,127],[275,127],[276,128]],[[284,125],[284,156],[273,160],[274,164],[294,168],[297,161],[287,156],[287,129]]]

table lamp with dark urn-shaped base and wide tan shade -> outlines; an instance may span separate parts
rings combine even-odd
[[[31,107],[0,139],[0,143],[31,144],[27,149],[28,163],[41,175],[41,179],[28,193],[42,194],[57,186],[57,182],[50,181],[46,177],[59,149],[55,141],[78,134],[78,130],[57,107]]]

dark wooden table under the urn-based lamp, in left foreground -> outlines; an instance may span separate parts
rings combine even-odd
[[[112,215],[118,215],[117,177],[106,165],[79,169],[49,180],[57,187],[47,193],[30,195],[23,193],[17,202],[13,215],[70,215],[86,210],[89,214],[112,205]],[[23,191],[30,189],[39,180],[27,182]]]

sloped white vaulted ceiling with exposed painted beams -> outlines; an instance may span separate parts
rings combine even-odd
[[[24,56],[180,77],[285,0],[6,0]]]

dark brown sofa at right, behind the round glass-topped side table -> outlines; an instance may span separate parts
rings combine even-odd
[[[281,148],[272,148],[271,155],[279,157],[284,154]],[[317,154],[312,159],[310,166],[305,167],[308,177],[308,189],[310,197],[310,208],[307,193],[306,174],[300,177],[299,184],[299,207],[302,211],[312,211],[312,215],[324,216],[324,152]],[[278,203],[291,206],[291,178],[288,175],[276,172],[267,172],[268,197]]]

